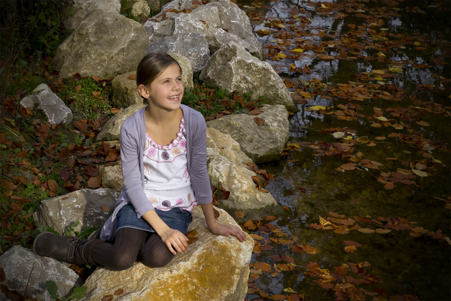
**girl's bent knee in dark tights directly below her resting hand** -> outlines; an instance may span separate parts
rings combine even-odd
[[[151,268],[161,268],[175,256],[156,233],[147,232],[146,239],[141,243],[138,258],[144,265]]]

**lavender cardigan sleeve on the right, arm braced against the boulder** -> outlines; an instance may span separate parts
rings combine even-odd
[[[191,141],[191,160],[189,177],[193,185],[194,194],[199,204],[212,202],[212,189],[207,171],[207,124],[202,114],[192,115],[195,118],[193,141]],[[193,120],[194,121],[194,120]]]

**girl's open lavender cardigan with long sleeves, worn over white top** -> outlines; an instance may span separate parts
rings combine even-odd
[[[202,114],[185,105],[183,110],[186,130],[186,158],[189,178],[199,204],[212,201],[212,190],[207,172],[207,125]],[[116,232],[116,216],[120,208],[132,203],[138,218],[153,209],[144,194],[143,153],[146,141],[145,107],[127,118],[120,128],[120,157],[124,186],[116,207],[102,227],[100,238],[113,239]]]

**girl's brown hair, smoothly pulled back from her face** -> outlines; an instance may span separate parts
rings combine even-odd
[[[148,53],[139,62],[138,68],[136,68],[136,86],[139,87],[139,85],[143,85],[149,87],[153,80],[172,64],[177,64],[177,66],[179,66],[181,74],[182,68],[169,54],[162,52]],[[143,102],[146,103],[146,98],[144,97]]]

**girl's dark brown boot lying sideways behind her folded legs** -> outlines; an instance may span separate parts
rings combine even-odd
[[[88,241],[74,236],[60,236],[44,232],[36,236],[33,242],[33,252],[39,256],[63,259],[74,264],[97,265],[91,258],[92,248],[105,242],[100,239]]]

